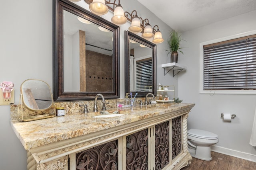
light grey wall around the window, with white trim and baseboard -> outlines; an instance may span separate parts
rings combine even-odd
[[[236,94],[199,94],[199,43],[236,35],[256,29],[256,11],[234,18],[212,23],[191,31],[183,32],[184,56],[181,64],[188,68],[179,74],[179,97],[183,102],[192,102],[188,117],[188,129],[204,129],[216,133],[219,137],[213,150],[256,162],[256,150],[249,145],[256,95]],[[234,113],[231,123],[220,118],[221,113]]]

